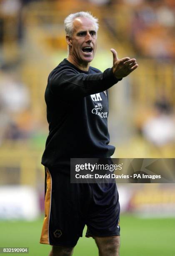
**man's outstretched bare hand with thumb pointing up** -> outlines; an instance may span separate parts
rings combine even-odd
[[[116,78],[121,79],[122,77],[126,77],[137,69],[138,64],[136,59],[130,59],[129,57],[118,59],[115,49],[110,49],[110,51],[113,54],[112,71]]]

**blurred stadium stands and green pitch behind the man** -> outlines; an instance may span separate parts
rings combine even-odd
[[[44,92],[67,56],[64,18],[88,10],[100,21],[92,66],[137,58],[139,68],[110,89],[115,158],[175,156],[174,0],[0,0],[0,246],[40,245],[48,134]],[[121,256],[175,256],[175,185],[119,184]],[[75,256],[97,255],[80,238]]]

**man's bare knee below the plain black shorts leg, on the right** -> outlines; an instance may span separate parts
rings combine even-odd
[[[119,256],[120,236],[95,237],[100,256]]]

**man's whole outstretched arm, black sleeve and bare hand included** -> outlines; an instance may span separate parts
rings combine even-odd
[[[63,67],[50,74],[50,90],[66,98],[85,97],[109,89],[138,67],[136,59],[129,57],[118,59],[117,52],[114,49],[111,51],[113,54],[112,68],[96,74],[77,74],[75,69],[69,66]]]

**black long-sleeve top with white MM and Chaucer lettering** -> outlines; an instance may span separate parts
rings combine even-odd
[[[49,135],[44,166],[64,165],[70,158],[109,158],[107,89],[116,84],[112,69],[82,71],[64,59],[48,77],[45,90]]]

